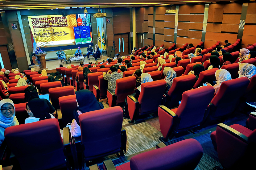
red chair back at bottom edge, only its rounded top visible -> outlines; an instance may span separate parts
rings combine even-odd
[[[130,160],[130,169],[195,169],[203,153],[204,150],[197,140],[185,139],[133,156]]]

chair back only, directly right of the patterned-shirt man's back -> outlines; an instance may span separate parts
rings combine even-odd
[[[116,80],[116,91],[117,104],[124,102],[128,95],[134,93],[134,88],[136,85],[136,77],[129,76]]]

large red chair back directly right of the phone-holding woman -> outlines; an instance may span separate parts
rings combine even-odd
[[[218,93],[209,104],[209,114],[205,119],[216,120],[233,113],[249,83],[247,77],[222,82]]]

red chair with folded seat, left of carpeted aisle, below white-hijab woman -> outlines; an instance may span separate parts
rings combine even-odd
[[[165,80],[147,82],[141,84],[138,101],[133,96],[129,95],[127,102],[131,121],[134,121],[140,115],[157,112],[158,106],[162,101],[165,87]]]

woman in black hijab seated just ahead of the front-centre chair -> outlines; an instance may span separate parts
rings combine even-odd
[[[77,108],[73,113],[74,119],[71,123],[71,135],[73,137],[78,137],[81,136],[79,115],[94,110],[101,110],[104,106],[97,101],[94,94],[88,89],[76,91],[75,94]]]

